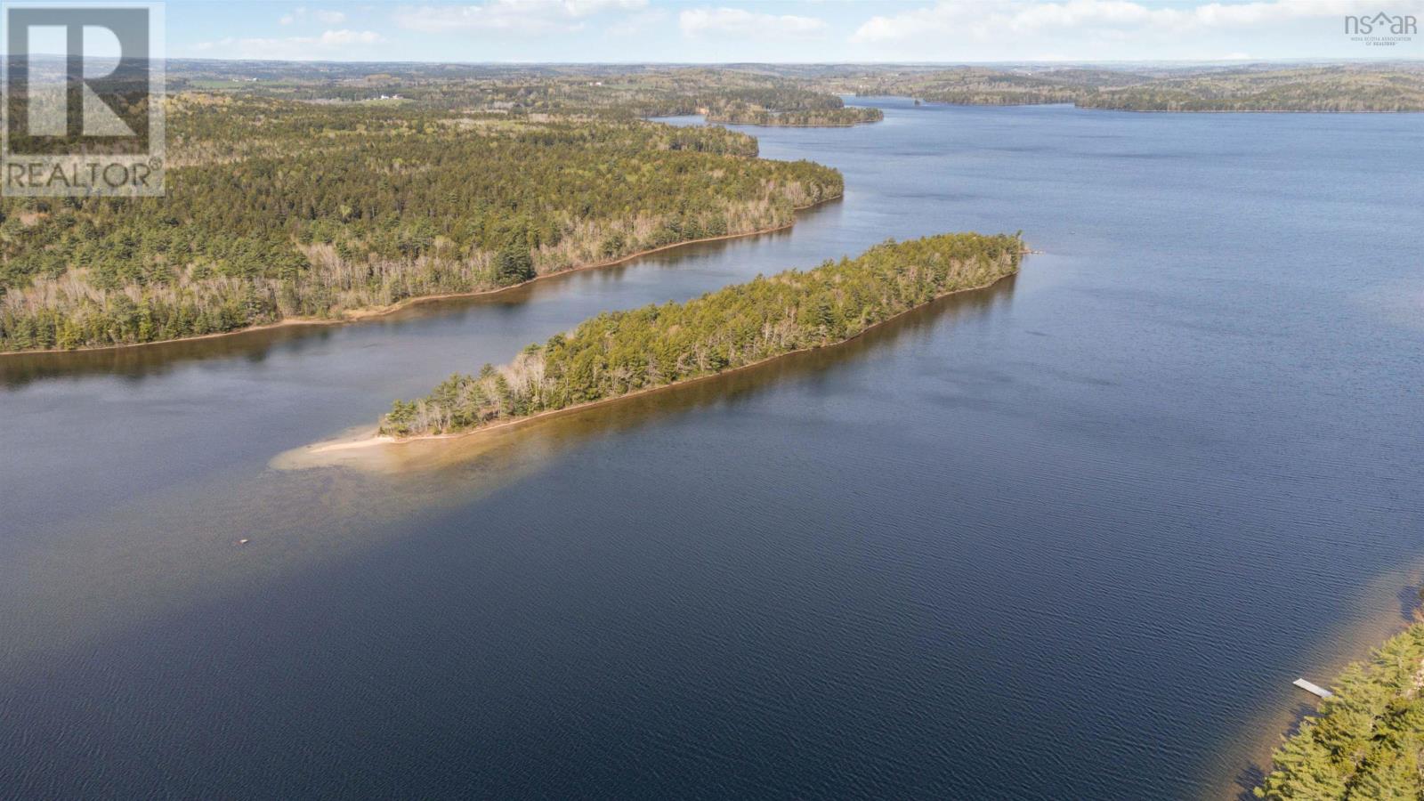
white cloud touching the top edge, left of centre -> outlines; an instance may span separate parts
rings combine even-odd
[[[396,24],[422,33],[575,30],[582,20],[617,11],[639,11],[648,0],[486,0],[470,6],[400,9]]]

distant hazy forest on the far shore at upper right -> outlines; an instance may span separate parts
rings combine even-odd
[[[985,68],[889,73],[820,81],[827,91],[900,94],[933,103],[1072,103],[1124,111],[1424,111],[1417,64],[1330,67]]]

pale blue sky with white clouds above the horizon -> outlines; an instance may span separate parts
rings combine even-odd
[[[167,3],[169,57],[400,61],[1420,58],[1346,14],[1424,0],[470,0]]]

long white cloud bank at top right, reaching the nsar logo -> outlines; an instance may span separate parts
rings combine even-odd
[[[1381,9],[1421,7],[1420,0],[1381,0]],[[1371,6],[1371,11],[1374,6]],[[1310,17],[1360,13],[1357,0],[1255,0],[1149,7],[1134,0],[941,0],[934,6],[866,20],[850,40],[887,43],[937,36],[985,40],[1005,34],[1072,31],[1111,37],[1122,31],[1188,33],[1250,29]]]

